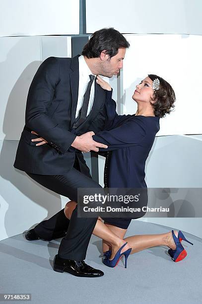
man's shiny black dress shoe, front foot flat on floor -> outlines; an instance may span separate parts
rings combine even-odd
[[[102,277],[104,272],[87,265],[84,261],[66,260],[56,254],[53,269],[58,272],[68,272],[76,277]]]

